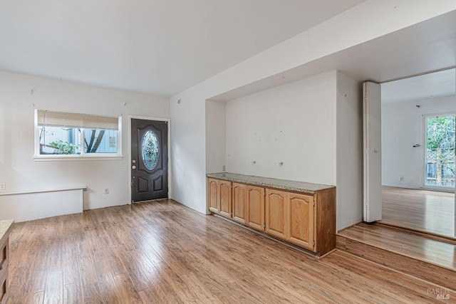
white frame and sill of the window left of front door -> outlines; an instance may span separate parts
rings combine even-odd
[[[56,161],[56,160],[100,160],[100,159],[123,159],[122,155],[122,117],[118,117],[118,130],[117,130],[117,152],[116,153],[86,153],[84,152],[84,130],[81,128],[81,154],[40,154],[40,143],[39,143],[39,130],[38,126],[38,109],[34,112],[34,123],[35,128],[34,136],[34,155],[35,161]],[[91,130],[91,129],[90,129]],[[100,129],[101,130],[101,129]]]

